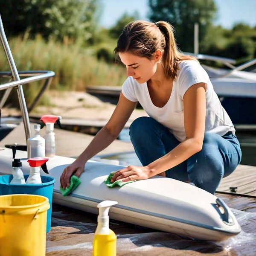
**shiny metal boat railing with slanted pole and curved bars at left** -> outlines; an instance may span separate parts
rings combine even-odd
[[[13,59],[12,52],[9,47],[4,29],[3,29],[3,22],[2,22],[1,15],[0,15],[0,40],[3,44],[3,49],[6,54],[6,58],[8,60],[9,67],[11,69],[11,72],[1,72],[0,73],[0,76],[3,76],[3,77],[9,76],[10,77],[10,81],[8,83],[0,84],[0,90],[6,90],[6,92],[4,93],[4,95],[1,99],[0,106],[3,107],[4,103],[6,102],[8,96],[12,90],[12,87],[15,87],[17,90],[17,95],[18,95],[18,99],[19,99],[19,103],[20,103],[20,111],[21,111],[21,116],[23,119],[23,124],[24,124],[25,134],[26,134],[26,141],[27,141],[31,137],[31,130],[30,130],[30,124],[29,124],[28,109],[26,106],[26,101],[25,101],[25,97],[24,97],[24,93],[23,93],[22,84],[28,84],[28,83],[31,83],[34,81],[46,79],[42,89],[38,93],[38,96],[36,97],[36,99],[34,100],[34,102],[32,103],[32,105],[29,108],[29,110],[31,111],[31,109],[34,108],[35,104],[40,99],[44,90],[49,86],[49,84],[52,80],[52,77],[55,76],[55,73],[53,71],[47,71],[47,70],[46,71],[20,71],[20,72],[17,71],[17,67],[15,65],[15,61]],[[20,76],[29,76],[29,77],[20,79]]]

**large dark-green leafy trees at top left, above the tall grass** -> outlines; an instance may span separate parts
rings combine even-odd
[[[98,0],[0,0],[7,35],[58,40],[91,38]]]

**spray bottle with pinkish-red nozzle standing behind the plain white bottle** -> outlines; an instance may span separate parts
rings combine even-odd
[[[46,135],[45,139],[45,156],[54,157],[55,156],[55,133],[53,132],[55,122],[61,128],[61,116],[44,115],[40,119],[46,125]]]

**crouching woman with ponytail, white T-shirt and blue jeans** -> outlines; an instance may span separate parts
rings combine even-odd
[[[214,194],[240,163],[241,149],[206,71],[177,49],[173,27],[165,21],[129,23],[114,52],[128,79],[109,122],[64,169],[63,189],[73,172],[80,177],[87,160],[116,139],[139,101],[149,117],[136,119],[129,134],[143,166],[125,167],[111,181],[162,175]]]

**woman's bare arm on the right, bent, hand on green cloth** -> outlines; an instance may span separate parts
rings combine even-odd
[[[163,157],[148,166],[128,166],[119,170],[112,178],[129,181],[147,179],[177,166],[202,149],[205,128],[205,83],[194,84],[186,91],[184,99],[184,125],[186,139]]]

